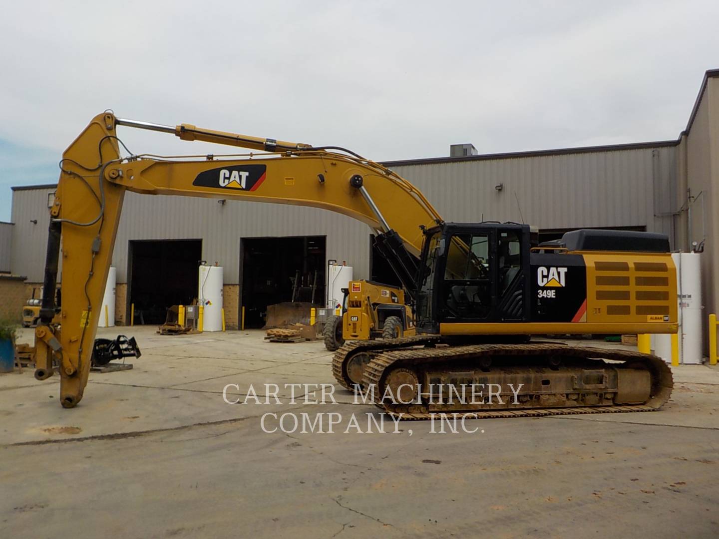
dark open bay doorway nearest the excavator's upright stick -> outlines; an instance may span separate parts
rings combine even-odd
[[[165,323],[168,307],[197,298],[201,239],[134,240],[128,257],[127,308],[134,303],[134,323]]]

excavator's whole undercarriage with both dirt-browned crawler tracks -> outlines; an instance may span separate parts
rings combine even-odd
[[[370,394],[402,419],[438,414],[534,417],[658,410],[672,371],[635,351],[531,344],[447,344],[439,336],[350,342],[332,370],[347,390]]]

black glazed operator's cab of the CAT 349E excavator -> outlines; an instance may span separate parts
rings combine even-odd
[[[425,231],[417,315],[441,323],[529,321],[530,231],[519,224],[445,223]]]

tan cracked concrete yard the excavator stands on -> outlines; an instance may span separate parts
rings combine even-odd
[[[331,384],[319,341],[149,327],[99,335],[118,331],[137,337],[142,357],[91,374],[73,410],[60,407],[56,377],[0,376],[0,537],[719,533],[715,367],[673,369],[672,400],[655,413],[467,422],[475,433],[431,433],[429,422],[394,432],[387,419],[384,433],[357,433],[352,413],[364,431],[375,408],[339,388],[336,404],[290,404],[285,389],[280,404],[223,400],[226,384],[237,384],[228,400],[244,400],[250,384],[258,395],[265,383]],[[262,415],[288,411],[342,420],[334,433],[262,430]]]

